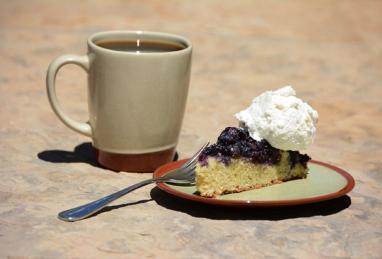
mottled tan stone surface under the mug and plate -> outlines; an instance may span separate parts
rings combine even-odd
[[[382,256],[381,1],[1,1],[1,258]],[[292,84],[319,114],[308,153],[350,172],[349,195],[274,209],[210,207],[146,186],[94,217],[67,209],[150,174],[99,168],[45,93],[49,62],[111,29],[182,34],[194,44],[178,152],[215,140],[233,114]],[[86,76],[58,76],[67,112],[87,119]]]

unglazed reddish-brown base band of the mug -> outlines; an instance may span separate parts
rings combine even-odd
[[[97,162],[108,169],[124,172],[153,172],[159,166],[173,161],[175,148],[145,153],[117,154],[94,148]]]

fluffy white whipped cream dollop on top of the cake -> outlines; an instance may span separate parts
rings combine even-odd
[[[291,86],[266,91],[235,114],[255,140],[266,139],[282,150],[303,150],[313,143],[318,113],[296,97]]]

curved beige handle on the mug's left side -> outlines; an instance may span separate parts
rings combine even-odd
[[[89,57],[87,55],[62,55],[54,59],[46,74],[46,91],[49,103],[58,118],[69,128],[88,137],[92,136],[92,130],[88,123],[78,122],[70,118],[61,108],[56,95],[56,75],[60,68],[66,64],[75,64],[89,72]]]

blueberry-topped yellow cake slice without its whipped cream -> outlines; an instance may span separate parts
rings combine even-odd
[[[256,141],[246,129],[228,127],[199,156],[196,189],[201,196],[215,197],[305,178],[309,159]]]

